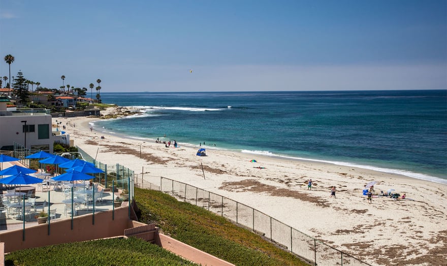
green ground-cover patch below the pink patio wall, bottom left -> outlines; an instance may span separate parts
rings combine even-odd
[[[5,265],[197,265],[141,239],[104,239],[24,249]]]

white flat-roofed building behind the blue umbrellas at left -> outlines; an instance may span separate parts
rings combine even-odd
[[[53,153],[54,142],[70,144],[69,135],[53,134],[50,110],[7,111],[5,99],[0,97],[0,150],[11,150],[17,143],[31,153],[40,150]]]

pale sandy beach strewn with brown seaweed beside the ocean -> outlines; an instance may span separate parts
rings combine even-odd
[[[115,108],[102,114],[110,112]],[[208,156],[199,157],[199,147],[183,146],[181,139],[176,140],[180,147],[166,148],[155,140],[106,135],[94,126],[90,131],[89,122],[98,118],[55,120],[66,125],[74,145],[103,163],[143,172],[145,182],[159,184],[163,176],[229,197],[374,265],[447,265],[447,185],[213,147],[205,147]],[[370,204],[362,194],[370,181],[377,181],[376,193],[395,189],[406,199],[373,197]],[[335,198],[330,197],[332,186]]]

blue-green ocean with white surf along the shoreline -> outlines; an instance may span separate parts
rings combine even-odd
[[[447,90],[119,92],[141,114],[98,130],[352,165],[447,184]]]

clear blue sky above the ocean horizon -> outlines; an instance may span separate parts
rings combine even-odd
[[[48,88],[446,89],[446,3],[0,0],[0,76],[12,54]]]

